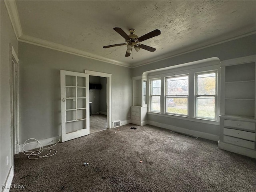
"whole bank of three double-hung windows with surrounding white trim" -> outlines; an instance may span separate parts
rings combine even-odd
[[[185,66],[150,74],[149,114],[218,124],[220,62],[212,64],[211,61],[208,66],[198,64],[195,68]]]

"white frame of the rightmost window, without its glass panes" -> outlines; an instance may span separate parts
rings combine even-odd
[[[198,93],[198,75],[200,74],[211,74],[215,73],[215,94],[205,94],[205,95],[199,95]],[[204,97],[214,97],[214,118],[207,118],[207,117],[202,117],[202,116],[197,116],[197,98],[200,96]],[[217,108],[217,103],[218,103],[218,69],[216,70],[210,70],[210,71],[201,71],[201,72],[195,72],[194,73],[194,118],[199,118],[199,119],[204,119],[204,120],[217,120],[217,113],[218,113],[218,108]]]

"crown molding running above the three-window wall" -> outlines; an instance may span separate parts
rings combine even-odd
[[[256,34],[256,31],[252,31],[252,32],[242,34],[242,35],[239,35],[239,36],[236,36],[236,37],[233,37],[233,38],[229,38],[229,39],[226,39],[226,40],[222,40],[222,41],[219,41],[219,42],[216,42],[216,43],[208,44],[206,46],[198,46],[198,48],[193,48],[193,49],[190,49],[190,50],[185,51],[185,52],[180,52],[180,53],[173,53],[172,52],[172,53],[169,53],[169,54],[164,54],[164,55],[158,56],[156,58],[152,58],[152,59],[149,59],[149,60],[144,60],[142,62],[138,62],[137,64],[133,64],[133,66],[131,66],[131,68],[136,68],[136,67],[148,65],[150,63],[159,62],[159,61],[162,61],[162,60],[166,60],[166,59],[169,59],[169,58],[173,58],[173,57],[176,57],[176,56],[180,56],[180,55],[183,55],[183,54],[187,54],[187,53],[194,52],[194,51],[197,51],[197,50],[201,50],[201,49],[204,49],[204,48],[208,48],[208,47],[211,47],[211,46],[222,44],[222,43],[225,43],[225,42],[229,42],[229,41],[236,40],[236,39],[239,39],[239,38],[243,38],[243,37],[253,35],[253,34]]]

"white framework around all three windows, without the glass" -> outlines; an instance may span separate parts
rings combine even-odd
[[[199,63],[200,61],[196,61],[197,64],[192,64],[189,66],[181,66],[181,67],[174,67],[168,70],[162,70],[162,71],[156,71],[148,73],[148,114],[150,115],[156,115],[156,116],[162,116],[166,118],[174,118],[179,120],[186,120],[186,121],[193,121],[193,122],[200,122],[200,123],[206,123],[206,124],[212,124],[212,125],[219,125],[220,124],[220,62],[219,60],[216,60],[214,58],[214,61],[211,61],[212,58],[209,58],[207,60],[210,60],[210,62],[206,62],[204,60],[204,63]],[[195,74],[196,73],[202,73],[202,72],[212,72],[216,71],[216,106],[215,106],[215,113],[216,113],[216,119],[203,119],[203,118],[197,118],[195,117]],[[166,106],[165,106],[165,77],[170,76],[181,76],[189,74],[189,90],[188,90],[188,116],[182,116],[180,114],[169,114],[165,113]],[[150,107],[150,80],[154,79],[161,79],[161,104],[160,104],[160,112],[152,111]]]

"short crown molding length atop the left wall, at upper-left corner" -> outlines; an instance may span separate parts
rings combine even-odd
[[[17,6],[14,0],[4,0],[4,4],[6,6],[6,10],[8,12],[9,18],[12,23],[12,27],[15,33],[17,40],[20,36],[22,36],[22,28],[20,25],[20,18],[17,10]]]

